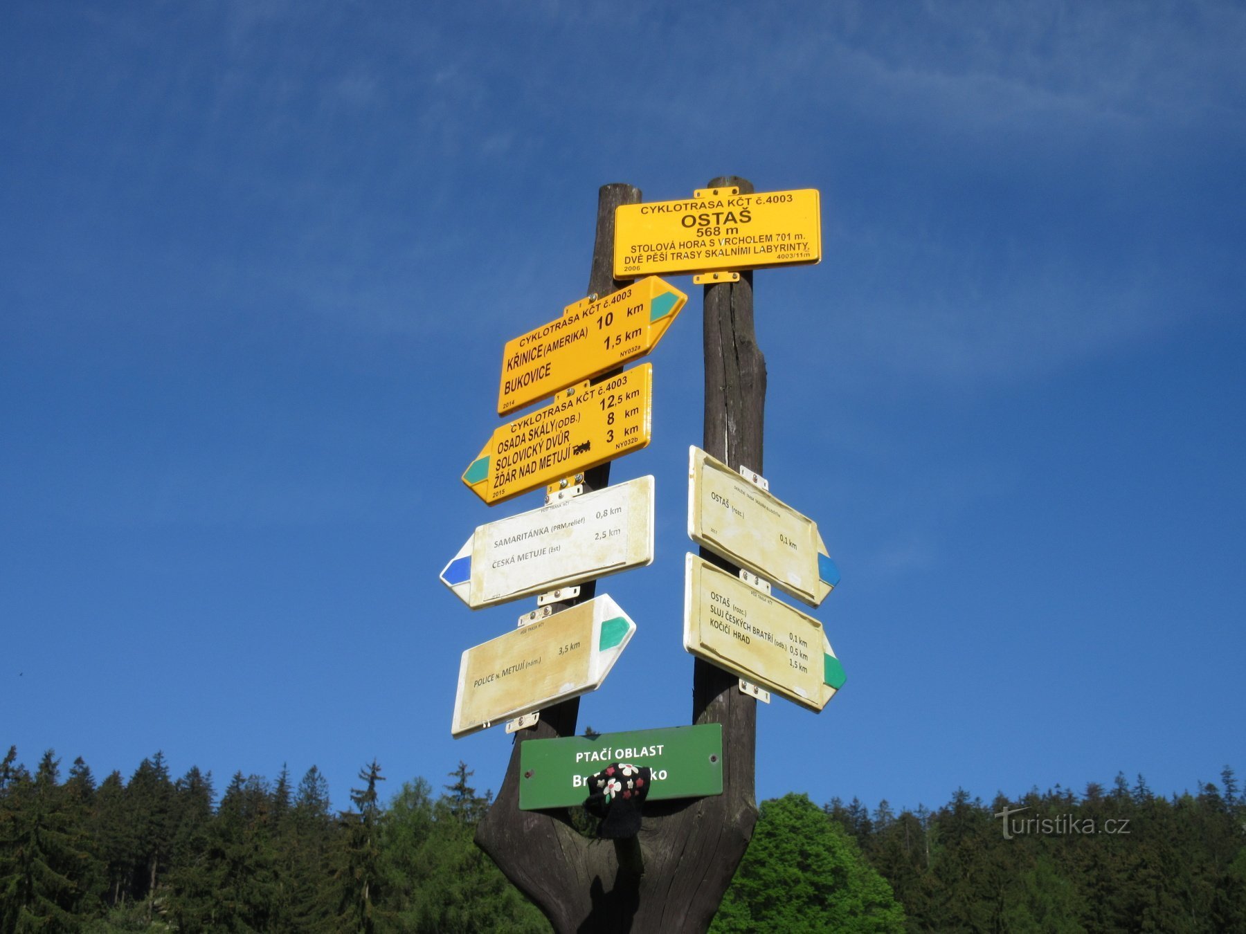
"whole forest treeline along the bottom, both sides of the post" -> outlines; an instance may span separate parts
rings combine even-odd
[[[0,762],[0,932],[548,932],[475,847],[490,804],[465,763],[383,795],[364,767],[334,812],[297,783],[173,778],[161,753],[97,782],[49,751]],[[1004,813],[1004,809],[1008,809]],[[934,811],[765,801],[713,932],[1246,930],[1246,796],[1138,778]]]

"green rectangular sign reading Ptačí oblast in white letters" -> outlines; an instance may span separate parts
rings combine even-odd
[[[723,725],[672,726],[594,740],[525,740],[520,746],[520,808],[583,804],[584,780],[611,762],[653,770],[649,801],[723,793]]]

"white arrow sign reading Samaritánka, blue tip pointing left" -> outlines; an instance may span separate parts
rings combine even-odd
[[[441,572],[472,609],[653,562],[653,477],[480,526]]]

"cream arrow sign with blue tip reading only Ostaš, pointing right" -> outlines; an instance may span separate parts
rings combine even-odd
[[[811,606],[840,582],[817,523],[699,447],[688,456],[688,535]]]

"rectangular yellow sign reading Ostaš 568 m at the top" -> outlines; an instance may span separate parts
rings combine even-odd
[[[816,188],[622,204],[614,212],[614,278],[756,269],[822,258]]]

